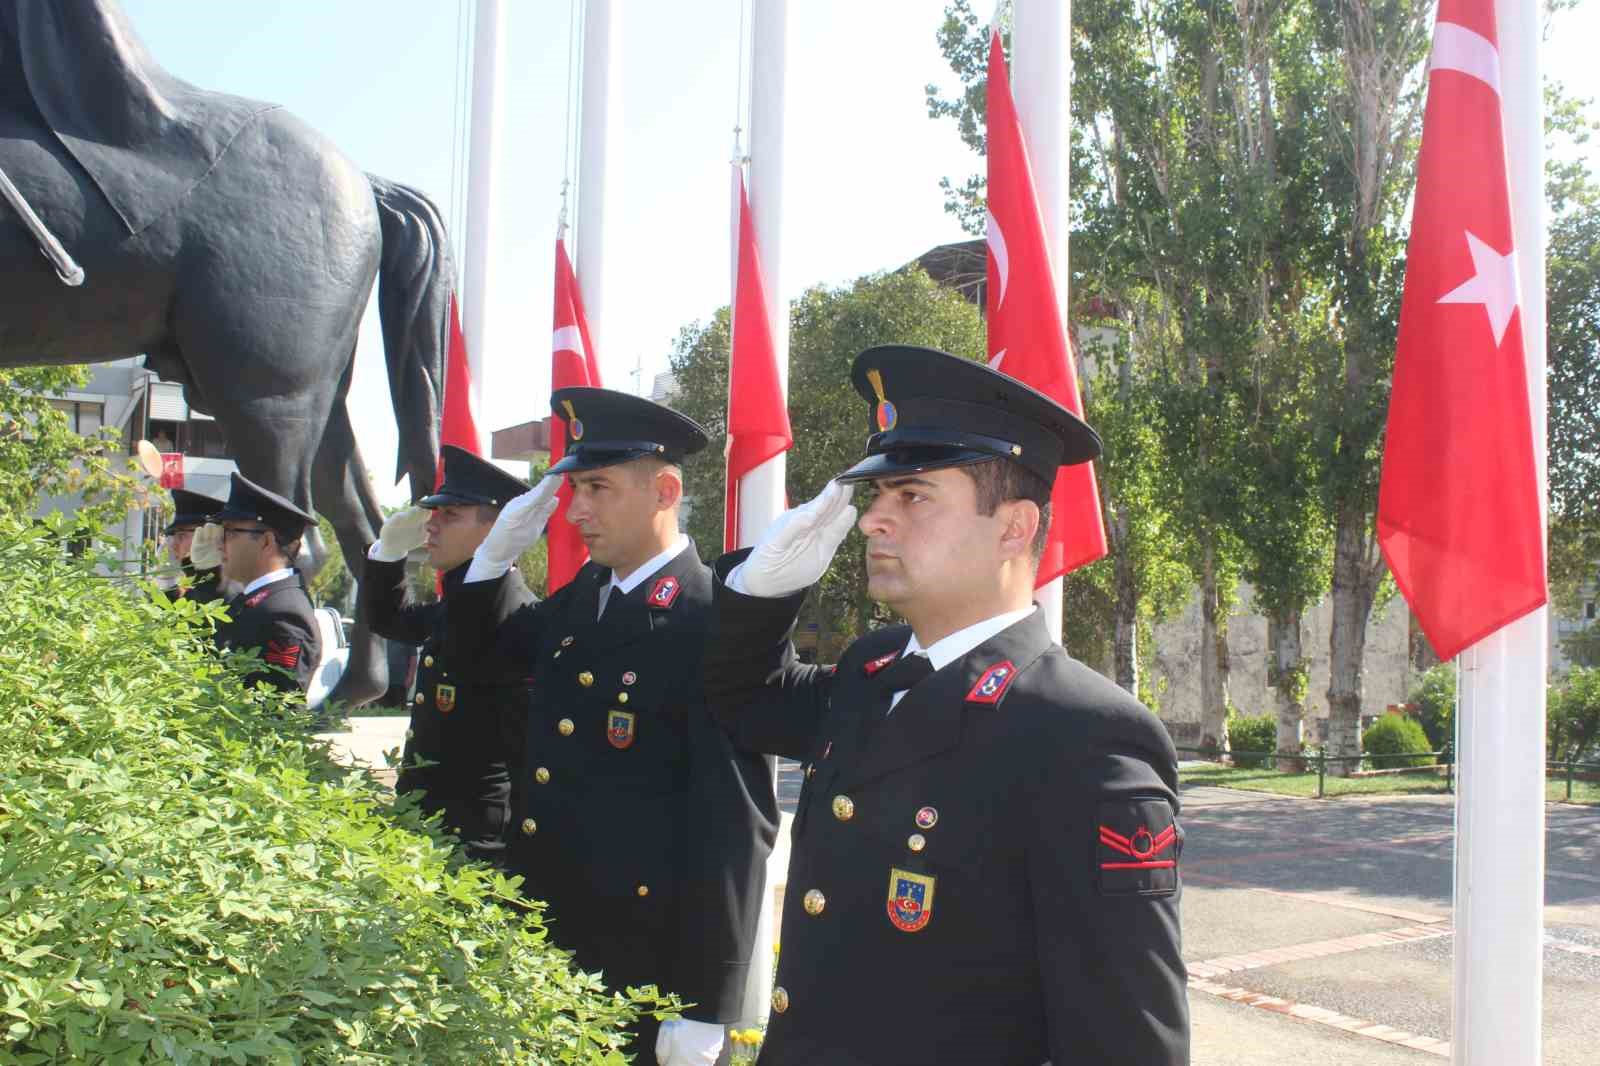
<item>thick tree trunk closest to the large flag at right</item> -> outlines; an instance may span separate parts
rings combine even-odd
[[[1378,591],[1376,546],[1366,509],[1358,501],[1339,504],[1333,539],[1333,632],[1328,637],[1328,754],[1362,754],[1362,659],[1366,619]],[[1328,771],[1347,776],[1355,762],[1336,762]]]

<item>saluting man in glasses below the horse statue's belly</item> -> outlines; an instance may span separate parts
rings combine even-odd
[[[294,557],[315,519],[234,474],[227,506],[214,522],[222,527],[222,578],[243,586],[227,602],[229,621],[216,627],[218,648],[256,648],[262,669],[251,672],[248,683],[304,693],[322,658],[322,640]]]

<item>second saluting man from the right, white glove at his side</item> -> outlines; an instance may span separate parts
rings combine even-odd
[[[501,512],[445,599],[451,626],[504,616],[506,567],[565,477],[590,562],[512,616],[534,688],[507,864],[549,901],[550,936],[579,967],[693,1004],[659,1034],[640,1020],[635,1053],[712,1063],[739,1015],[778,810],[766,760],[734,751],[701,691],[710,571],[678,531],[678,464],[706,432],[605,389],[558,389],[552,408],[565,458]]]

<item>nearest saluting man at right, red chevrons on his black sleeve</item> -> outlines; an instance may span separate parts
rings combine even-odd
[[[866,459],[717,563],[712,709],[805,762],[760,1066],[1187,1063],[1176,752],[1032,603],[1056,469],[1099,439],[928,349],[853,384]],[[867,592],[909,624],[803,666],[858,482]]]

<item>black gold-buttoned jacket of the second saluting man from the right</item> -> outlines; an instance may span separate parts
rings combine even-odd
[[[706,711],[710,570],[694,546],[595,621],[610,581],[589,563],[515,618],[534,690],[507,866],[579,967],[733,1021],[778,836],[771,771]],[[493,616],[502,584],[464,584],[451,621]]]

